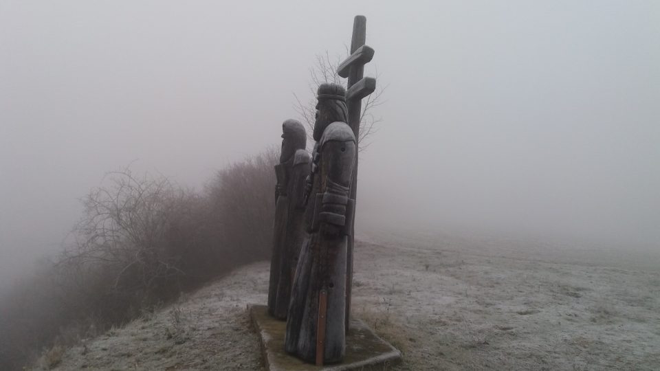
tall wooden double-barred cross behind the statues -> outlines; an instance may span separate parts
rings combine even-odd
[[[342,78],[349,78],[346,91],[346,105],[349,110],[349,126],[353,129],[355,140],[360,139],[360,115],[362,111],[362,98],[373,93],[376,89],[375,78],[363,78],[364,65],[373,58],[373,49],[364,45],[366,41],[366,17],[355,16],[353,20],[353,37],[351,38],[351,56],[344,60],[337,69],[337,74]],[[356,143],[357,144],[357,143]],[[355,165],[353,166],[353,182],[351,183],[350,199],[355,200],[358,194],[358,153],[355,153]],[[355,224],[355,218],[353,218]],[[353,225],[351,229],[353,231]],[[353,234],[349,236],[347,246],[346,267],[346,333],[349,333],[349,322],[351,319],[351,288],[353,286]]]

